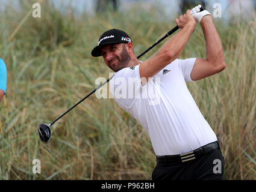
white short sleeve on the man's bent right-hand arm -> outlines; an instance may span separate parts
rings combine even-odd
[[[183,71],[183,76],[186,82],[192,82],[193,80],[190,77],[191,71],[194,67],[196,58],[189,59],[179,59],[179,66]]]

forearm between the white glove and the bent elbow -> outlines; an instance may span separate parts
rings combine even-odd
[[[222,44],[214,26],[213,19],[210,15],[204,16],[200,24],[204,32],[207,61],[216,65],[216,67],[225,64]]]

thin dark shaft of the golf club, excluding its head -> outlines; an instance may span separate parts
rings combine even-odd
[[[141,58],[143,55],[145,55],[146,52],[148,52],[149,50],[151,50],[153,47],[155,47],[158,43],[160,43],[161,41],[163,41],[166,37],[170,36],[171,34],[173,34],[173,32],[177,31],[179,29],[178,26],[175,26],[175,28],[173,28],[172,30],[170,30],[169,32],[167,32],[167,34],[165,34],[163,37],[160,38],[160,40],[158,40],[157,42],[155,42],[154,44],[152,44],[151,47],[149,47],[148,49],[145,50],[145,52],[141,53],[139,56],[137,56],[137,59]],[[70,112],[70,110],[72,110],[73,108],[75,108],[78,104],[80,104],[81,102],[83,102],[86,98],[88,98],[90,95],[92,95],[94,92],[96,92],[99,88],[101,88],[102,86],[104,86],[106,83],[108,83],[114,76],[110,77],[107,81],[105,81],[104,83],[102,83],[101,85],[99,85],[96,89],[94,89],[92,92],[90,92],[88,95],[86,95],[86,97],[84,97],[81,101],[79,101],[78,103],[76,103],[73,107],[71,107],[69,110],[67,110],[65,113],[63,113],[62,115],[60,115],[57,119],[55,119],[54,121],[51,122],[50,126],[53,125],[56,121],[58,121],[58,119],[62,118],[64,115],[66,115],[68,112]]]

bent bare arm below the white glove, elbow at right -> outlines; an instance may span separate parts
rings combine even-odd
[[[196,58],[190,74],[192,80],[199,80],[219,73],[226,67],[219,34],[210,15],[204,16],[200,22],[204,32],[206,59]]]

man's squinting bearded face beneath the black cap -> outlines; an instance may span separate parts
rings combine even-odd
[[[101,48],[101,56],[111,70],[117,72],[129,64],[131,57],[125,43],[107,44]]]

